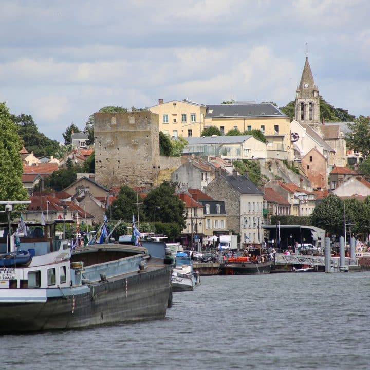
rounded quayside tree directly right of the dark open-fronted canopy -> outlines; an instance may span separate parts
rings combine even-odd
[[[324,229],[330,235],[344,235],[343,219],[343,201],[335,194],[324,198],[311,214],[312,225]]]

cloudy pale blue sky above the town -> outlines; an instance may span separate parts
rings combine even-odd
[[[0,0],[0,101],[63,141],[107,105],[295,100],[370,115],[368,0]]]

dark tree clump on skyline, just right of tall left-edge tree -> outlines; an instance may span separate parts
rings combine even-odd
[[[40,133],[31,115],[11,115],[11,120],[18,126],[18,134],[23,140],[23,145],[28,152],[33,152],[36,157],[55,156],[59,149],[57,140],[51,140]]]

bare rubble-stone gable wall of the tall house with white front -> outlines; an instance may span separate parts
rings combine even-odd
[[[236,233],[240,233],[240,194],[232,186],[230,186],[224,175],[217,175],[216,178],[208,184],[203,192],[212,197],[214,200],[221,200],[225,202],[227,228],[228,230],[233,230]]]

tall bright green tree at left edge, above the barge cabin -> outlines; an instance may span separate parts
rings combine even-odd
[[[19,154],[22,140],[5,103],[0,103],[0,199],[26,200],[22,184],[23,165]]]

